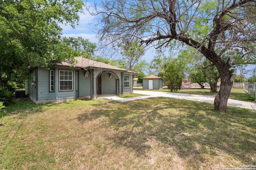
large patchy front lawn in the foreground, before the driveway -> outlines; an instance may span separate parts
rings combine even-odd
[[[150,98],[18,99],[0,118],[0,169],[198,170],[256,165],[256,112]],[[178,168],[177,168],[178,167]]]

